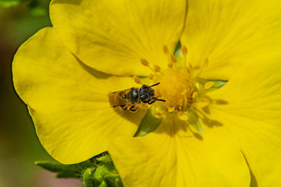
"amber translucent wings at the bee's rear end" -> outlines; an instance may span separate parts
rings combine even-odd
[[[131,104],[128,99],[124,99],[124,95],[128,94],[131,89],[122,90],[119,92],[109,92],[108,99],[110,100],[110,106],[124,106],[126,104]]]

